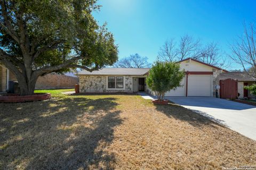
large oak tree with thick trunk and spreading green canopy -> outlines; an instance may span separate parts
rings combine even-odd
[[[92,16],[99,7],[95,0],[1,0],[0,63],[15,74],[21,95],[34,94],[39,76],[116,62],[113,35]]]

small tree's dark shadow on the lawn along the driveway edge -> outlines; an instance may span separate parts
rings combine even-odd
[[[190,109],[187,109],[185,107],[182,107],[174,103],[169,103],[168,105],[155,105],[155,106],[157,111],[160,111],[165,115],[169,117],[173,117],[177,120],[186,121],[195,127],[201,127],[204,125],[213,125],[215,124],[215,122],[217,122],[216,120],[214,120],[214,118],[211,119],[213,121],[212,122],[206,117],[204,117],[203,115],[195,113]]]

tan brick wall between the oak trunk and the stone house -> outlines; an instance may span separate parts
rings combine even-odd
[[[60,74],[46,74],[37,79],[36,89],[75,88],[75,84],[78,84],[78,81],[79,79],[77,77]]]

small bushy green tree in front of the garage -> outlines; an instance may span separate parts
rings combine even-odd
[[[157,99],[162,101],[167,91],[181,87],[183,77],[185,72],[180,71],[178,63],[156,61],[149,71],[147,84],[155,92]]]

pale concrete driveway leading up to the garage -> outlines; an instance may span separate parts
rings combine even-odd
[[[214,97],[166,97],[256,140],[256,107]]]

